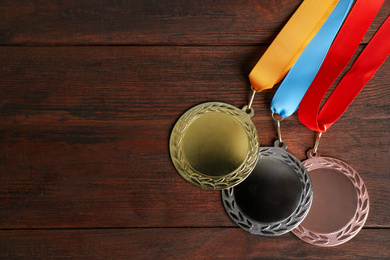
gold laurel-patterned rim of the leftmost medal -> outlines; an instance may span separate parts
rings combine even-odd
[[[234,171],[222,176],[210,176],[194,169],[182,149],[187,128],[199,116],[211,112],[223,113],[236,119],[248,137],[248,152],[244,162]],[[250,116],[243,110],[222,102],[202,103],[185,112],[176,122],[169,142],[171,159],[178,173],[191,184],[208,190],[227,189],[245,180],[255,168],[260,152],[259,137]]]

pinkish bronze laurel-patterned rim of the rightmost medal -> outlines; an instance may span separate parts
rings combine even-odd
[[[357,195],[357,207],[354,216],[339,230],[331,233],[318,233],[299,225],[292,232],[301,240],[322,247],[341,245],[359,233],[364,226],[369,212],[369,197],[366,185],[360,175],[345,162],[330,157],[312,157],[303,162],[310,172],[315,169],[333,169],[345,175],[353,184]],[[315,192],[315,191],[314,191]],[[310,213],[309,213],[310,214]]]

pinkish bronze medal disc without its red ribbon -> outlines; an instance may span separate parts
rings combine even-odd
[[[346,163],[312,151],[303,162],[313,183],[313,205],[306,219],[293,230],[316,246],[337,246],[352,239],[363,227],[369,211],[367,188]]]

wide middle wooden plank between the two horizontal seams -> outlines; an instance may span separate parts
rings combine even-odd
[[[0,48],[0,226],[233,226],[219,192],[193,187],[176,173],[168,140],[175,121],[193,105],[219,100],[243,106],[250,94],[246,75],[263,51]],[[383,130],[390,127],[389,69],[386,62],[320,146],[323,155],[344,160],[365,180],[368,227],[390,226],[389,132]],[[276,139],[272,92],[254,103],[261,145]],[[282,134],[289,151],[304,159],[314,133],[295,115],[283,121]]]

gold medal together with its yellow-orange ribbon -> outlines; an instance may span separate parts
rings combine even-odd
[[[257,130],[250,119],[255,93],[272,88],[286,75],[336,3],[303,1],[251,72],[253,94],[243,109],[209,102],[180,117],[169,147],[173,165],[184,179],[204,189],[221,190],[249,176],[260,153]]]

